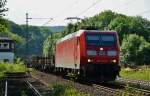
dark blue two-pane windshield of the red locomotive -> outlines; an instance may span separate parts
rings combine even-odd
[[[93,46],[113,46],[115,36],[113,34],[87,34],[86,43]]]

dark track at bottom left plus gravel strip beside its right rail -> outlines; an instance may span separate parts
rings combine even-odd
[[[50,90],[26,73],[6,73],[5,96],[48,96]]]

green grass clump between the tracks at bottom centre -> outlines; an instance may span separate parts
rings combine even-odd
[[[79,92],[72,85],[55,84],[53,86],[52,96],[90,96],[90,95]]]

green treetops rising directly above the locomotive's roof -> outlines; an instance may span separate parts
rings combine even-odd
[[[111,10],[106,10],[93,17],[85,18],[81,22],[77,22],[75,24],[68,24],[68,26],[62,33],[62,36],[65,36],[72,32],[76,32],[79,29],[94,28],[103,30],[106,27],[108,27],[109,23],[116,16],[117,16],[116,13],[112,12]]]

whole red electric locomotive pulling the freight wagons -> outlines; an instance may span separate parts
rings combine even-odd
[[[79,30],[57,41],[55,68],[78,72],[92,81],[115,80],[119,51],[117,32]]]

